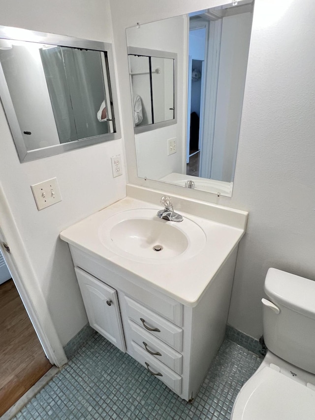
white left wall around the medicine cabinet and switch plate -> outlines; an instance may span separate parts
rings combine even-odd
[[[112,41],[108,1],[0,0],[0,25]],[[59,239],[65,227],[126,195],[126,176],[112,177],[110,157],[122,154],[122,140],[59,156],[20,163],[0,106],[0,179],[35,273],[26,287],[45,296],[65,345],[87,323],[68,247]],[[31,184],[57,177],[63,200],[37,211]],[[10,226],[1,226],[4,233]],[[10,244],[11,248],[12,244]],[[41,308],[35,308],[40,314]]]

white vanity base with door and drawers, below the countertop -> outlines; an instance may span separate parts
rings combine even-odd
[[[114,272],[104,259],[72,245],[70,250],[91,326],[192,401],[224,338],[236,249],[195,307],[140,278],[130,281],[128,273]]]

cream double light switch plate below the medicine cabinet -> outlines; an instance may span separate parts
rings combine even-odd
[[[62,200],[57,178],[31,185],[38,210]]]

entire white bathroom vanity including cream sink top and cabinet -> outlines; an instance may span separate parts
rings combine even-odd
[[[60,237],[92,327],[191,401],[224,339],[248,213],[177,196],[189,213],[174,223],[157,216],[161,192],[127,190]]]

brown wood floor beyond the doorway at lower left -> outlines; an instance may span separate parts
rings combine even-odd
[[[0,285],[0,416],[49,369],[13,280]]]

